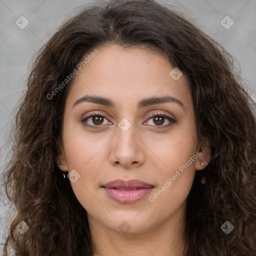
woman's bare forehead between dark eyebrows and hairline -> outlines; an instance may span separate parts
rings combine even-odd
[[[130,103],[133,99],[165,94],[185,98],[187,103],[188,97],[191,100],[187,77],[182,74],[174,80],[169,74],[173,66],[161,52],[119,45],[97,47],[97,50],[97,54],[77,69],[69,101],[74,102],[84,94],[107,95],[122,102],[129,98]],[[90,52],[83,59],[88,55]]]

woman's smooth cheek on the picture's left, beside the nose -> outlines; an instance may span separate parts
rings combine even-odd
[[[68,129],[66,130],[68,132]],[[66,135],[65,154],[68,171],[75,169],[79,178],[75,182],[69,181],[75,197],[88,212],[98,207],[95,200],[95,189],[99,184],[100,165],[105,139],[95,139],[93,134],[84,136],[82,132],[69,130]],[[66,133],[67,134],[67,133]],[[102,141],[104,140],[104,141]]]

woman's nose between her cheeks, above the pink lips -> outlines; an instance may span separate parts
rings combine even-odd
[[[117,134],[110,143],[109,161],[113,165],[119,164],[126,169],[133,169],[144,163],[145,145],[134,125],[127,130],[120,127],[116,126]]]

